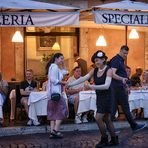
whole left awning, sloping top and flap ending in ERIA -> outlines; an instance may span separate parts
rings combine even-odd
[[[1,0],[0,26],[79,25],[79,8],[32,0]]]

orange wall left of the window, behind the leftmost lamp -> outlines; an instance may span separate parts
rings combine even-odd
[[[19,28],[18,28],[19,29]],[[21,28],[20,28],[21,29]],[[0,28],[0,70],[4,79],[22,80],[24,77],[24,47],[23,43],[12,43],[11,39],[17,28]],[[21,29],[23,30],[23,29]]]

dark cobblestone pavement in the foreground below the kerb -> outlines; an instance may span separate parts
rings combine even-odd
[[[63,139],[49,139],[49,134],[32,134],[0,138],[0,148],[94,148],[100,137],[97,130],[63,132]],[[117,148],[147,148],[148,128],[133,133],[130,128],[119,133]]]

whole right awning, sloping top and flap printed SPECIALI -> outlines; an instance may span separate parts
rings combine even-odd
[[[148,26],[147,3],[124,0],[94,6],[93,9],[97,24]]]

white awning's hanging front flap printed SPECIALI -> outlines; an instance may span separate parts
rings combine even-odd
[[[123,12],[113,10],[94,11],[95,23],[128,26],[148,26],[148,12]]]

